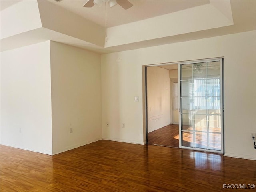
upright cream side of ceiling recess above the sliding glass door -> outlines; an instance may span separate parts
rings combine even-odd
[[[219,4],[222,4],[219,1]],[[148,18],[107,29],[108,41],[105,47],[130,44],[157,38],[188,34],[191,32],[220,28],[233,25],[230,3],[226,5],[223,14],[216,6],[205,4],[164,14],[154,18]],[[227,17],[228,15],[228,17]]]

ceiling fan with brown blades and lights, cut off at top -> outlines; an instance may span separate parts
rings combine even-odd
[[[96,5],[100,5],[103,2],[108,2],[110,7],[114,7],[114,6],[116,6],[118,4],[118,5],[120,5],[124,9],[129,9],[129,8],[131,8],[133,6],[132,3],[130,3],[128,0],[88,0],[84,4],[84,7],[92,7],[95,4]]]

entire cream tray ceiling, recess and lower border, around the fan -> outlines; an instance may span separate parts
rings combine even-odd
[[[1,0],[1,51],[52,40],[104,54],[256,30],[256,0],[130,0],[107,7],[105,42],[104,4],[86,1]]]

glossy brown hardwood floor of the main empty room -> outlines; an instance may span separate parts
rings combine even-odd
[[[1,192],[222,192],[256,184],[256,161],[100,140],[49,156],[1,146]]]

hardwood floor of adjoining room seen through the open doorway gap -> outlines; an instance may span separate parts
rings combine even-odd
[[[148,133],[148,143],[179,147],[179,125],[170,124]]]

